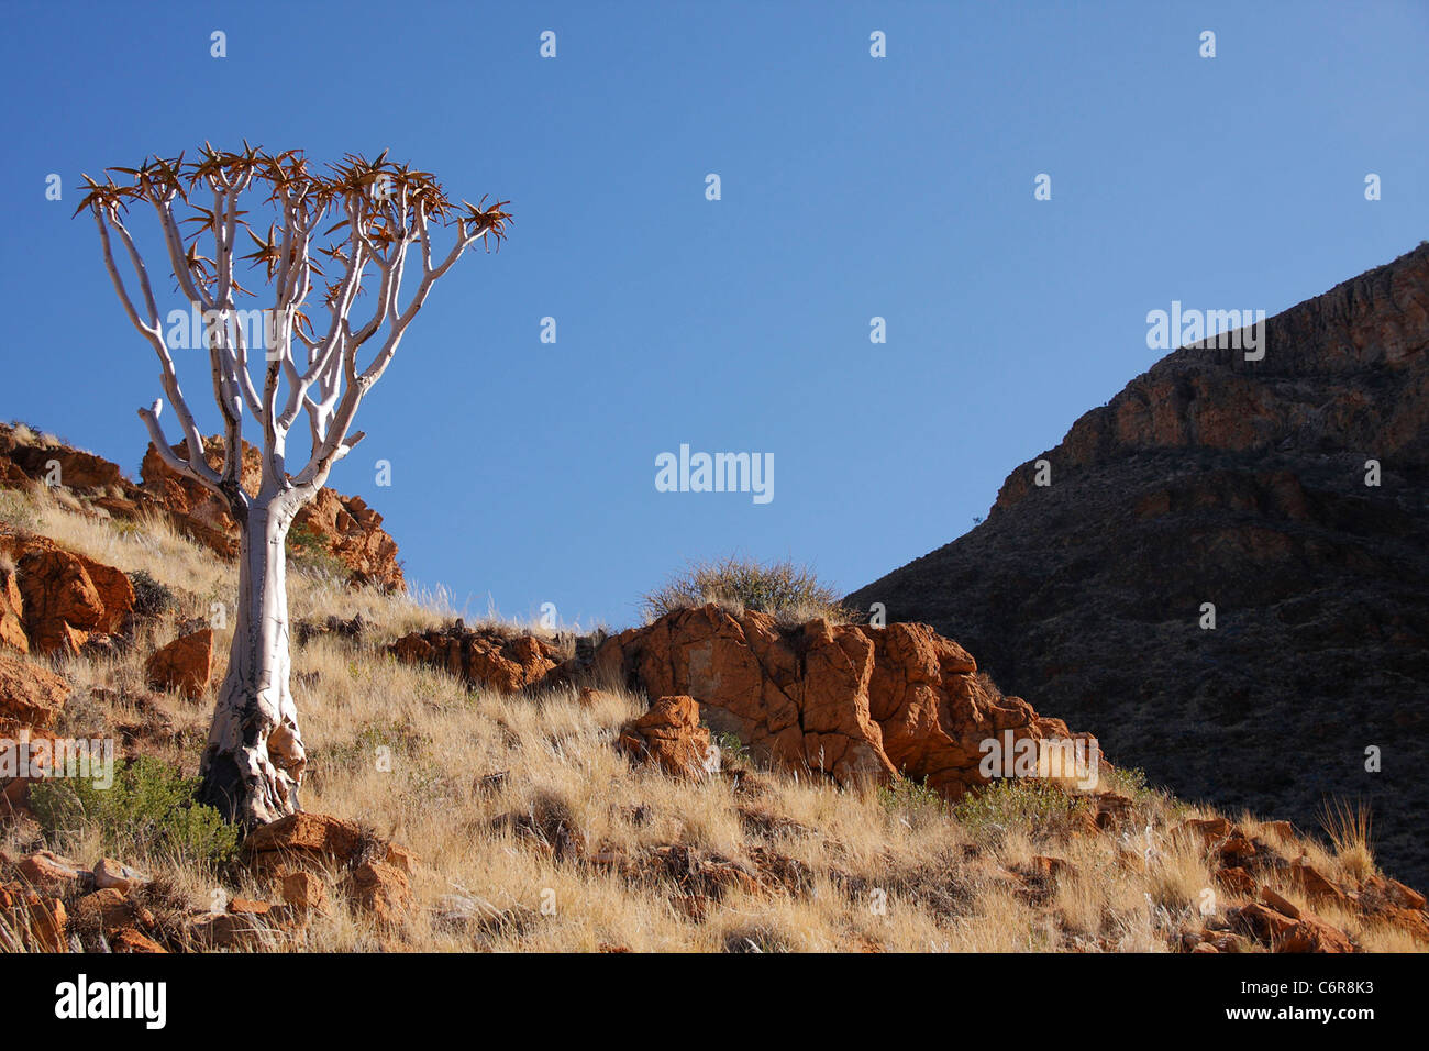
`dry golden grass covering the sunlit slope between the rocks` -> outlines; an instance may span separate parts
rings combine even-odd
[[[39,532],[124,571],[146,569],[179,593],[179,608],[146,626],[129,652],[56,662],[77,696],[90,686],[141,694],[143,659],[173,636],[176,622],[207,616],[213,602],[231,602],[233,566],[163,523],[136,529],[74,513],[43,492],[31,496]],[[959,811],[916,792],[840,789],[823,778],[752,769],[739,755],[727,756],[722,775],[702,781],[634,768],[612,742],[619,726],[643,711],[640,698],[610,692],[583,706],[573,691],[472,692],[443,672],[390,658],[384,645],[393,638],[452,616],[442,596],[436,599],[354,592],[322,573],[292,572],[294,621],[342,611],[344,618],[362,613],[372,625],[356,642],[326,635],[294,645],[294,692],[312,759],[303,805],[363,822],[410,848],[420,865],[413,875],[416,907],[400,928],[379,929],[330,891],[326,914],[272,948],[1160,952],[1175,949],[1182,929],[1242,904],[1213,882],[1205,849],[1172,832],[1187,816],[1215,811],[1120,775],[1112,781],[1132,796],[1127,821],[1115,831],[1089,832],[1072,819],[1075,805],[1039,809],[1040,795],[1020,798],[1006,812]],[[229,641],[217,633],[214,681],[223,675]],[[207,705],[177,695],[160,704],[173,738],[143,748],[193,774]],[[83,732],[134,718],[139,714],[123,704],[79,699],[66,714]],[[483,786],[493,774],[504,778]],[[584,859],[560,857],[513,831],[503,815],[529,815],[537,825],[563,821]],[[1242,825],[1273,835],[1250,815],[1242,815]],[[1332,879],[1352,881],[1372,865],[1353,828],[1340,828],[1329,847],[1295,837],[1283,851],[1305,854]],[[34,845],[21,839],[21,831],[10,828],[3,845]],[[101,857],[93,834],[56,845],[84,864]],[[803,872],[805,885],[730,891],[706,902],[699,921],[682,907],[679,888],[649,865],[629,877],[619,864],[600,861],[643,864],[666,845],[745,864],[763,852]],[[1067,868],[1039,878],[1037,855]],[[193,908],[221,908],[224,895],[274,899],[272,887],[243,871],[220,875],[141,852],[120,859],[161,877],[171,895]],[[1293,888],[1280,889],[1300,901]],[[493,918],[450,922],[459,898]],[[1359,917],[1330,911],[1326,918],[1370,949],[1423,948]]]

